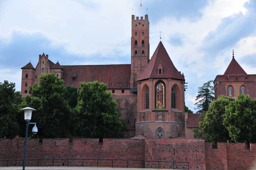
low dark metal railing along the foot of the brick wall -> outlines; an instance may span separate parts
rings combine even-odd
[[[0,166],[23,166],[23,159],[0,159]],[[189,162],[146,161],[139,159],[26,159],[26,166],[87,166],[189,170]]]

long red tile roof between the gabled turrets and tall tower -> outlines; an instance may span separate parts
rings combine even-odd
[[[131,64],[62,65],[64,84],[80,88],[80,82],[98,80],[108,88],[130,88]],[[76,80],[72,81],[75,76]]]

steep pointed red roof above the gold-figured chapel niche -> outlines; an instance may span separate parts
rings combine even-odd
[[[159,66],[162,67],[162,74],[158,74]],[[181,72],[179,72],[174,66],[171,58],[162,44],[162,41],[159,42],[151,60],[137,81],[149,78],[185,79],[184,76],[181,75]]]

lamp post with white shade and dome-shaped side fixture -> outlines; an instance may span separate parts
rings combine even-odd
[[[32,129],[33,134],[36,134],[38,132],[36,123],[30,123],[32,116],[32,111],[35,111],[35,109],[31,107],[25,107],[24,110],[24,119],[26,121],[26,135],[25,135],[25,148],[24,148],[24,158],[23,158],[23,170],[25,170],[25,164],[26,164],[26,152],[27,152],[27,133],[29,132],[29,124],[34,124],[35,126]]]

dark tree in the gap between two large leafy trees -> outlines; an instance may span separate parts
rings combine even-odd
[[[77,88],[76,87],[71,87],[71,86],[65,86],[66,87],[66,91],[63,94],[63,97],[65,100],[68,101],[68,105],[71,108],[76,107],[77,104]]]

